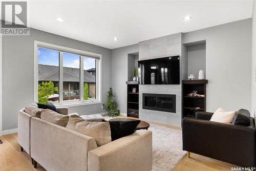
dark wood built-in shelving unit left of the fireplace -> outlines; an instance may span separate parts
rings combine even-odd
[[[139,118],[138,81],[126,81],[126,84],[127,84],[127,116]],[[133,90],[135,90],[135,92],[133,92]]]

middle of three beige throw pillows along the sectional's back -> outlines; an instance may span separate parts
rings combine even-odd
[[[43,109],[41,113],[41,119],[65,127],[69,121],[69,116],[59,114],[50,109]]]

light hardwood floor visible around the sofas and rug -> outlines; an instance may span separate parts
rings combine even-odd
[[[122,117],[122,116],[120,116]],[[106,120],[110,119],[108,116],[104,116]],[[149,122],[151,125],[169,127],[171,129],[181,130],[180,127],[169,126],[165,124],[159,124],[154,122]],[[3,144],[0,144],[0,170],[1,171],[27,171],[27,170],[45,170],[39,164],[37,168],[34,168],[31,164],[31,158],[24,151],[20,151],[20,146],[17,141],[18,135],[9,134],[5,136],[0,136],[0,140],[3,141]],[[185,156],[180,163],[174,169],[175,171],[179,170],[191,170],[191,171],[212,171],[212,170],[231,170],[231,167],[235,165],[211,159],[208,157],[200,156],[194,153],[190,153],[190,158]]]

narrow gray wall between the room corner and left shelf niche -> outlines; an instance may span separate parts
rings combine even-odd
[[[123,116],[127,115],[127,86],[125,81],[128,79],[128,54],[135,52],[139,52],[138,44],[111,50],[111,87]]]

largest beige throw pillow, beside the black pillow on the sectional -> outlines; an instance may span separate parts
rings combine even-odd
[[[78,115],[71,115],[67,128],[93,137],[98,146],[111,142],[109,122],[89,122]]]

